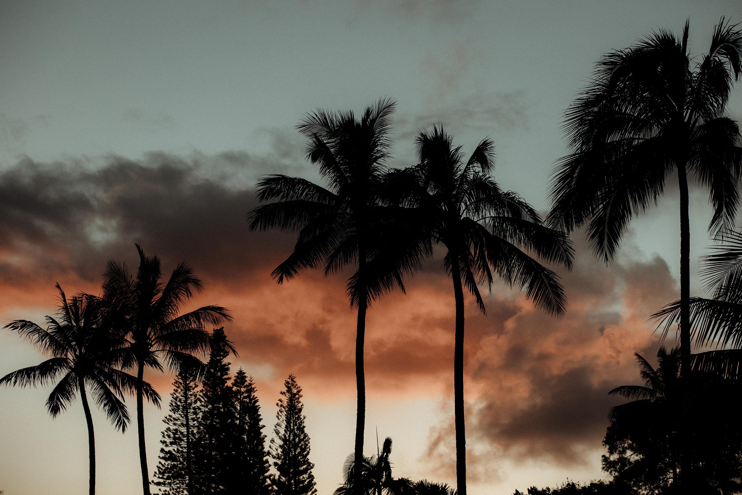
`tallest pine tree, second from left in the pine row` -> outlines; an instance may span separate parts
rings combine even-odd
[[[234,391],[229,386],[229,344],[224,328],[214,329],[211,354],[200,392],[200,411],[194,462],[196,494],[232,493]]]

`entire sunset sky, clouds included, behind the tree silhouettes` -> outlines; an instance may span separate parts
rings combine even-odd
[[[307,272],[278,286],[271,270],[292,235],[250,233],[255,181],[312,180],[294,125],[315,108],[361,111],[397,100],[394,166],[414,163],[420,128],[442,123],[472,151],[496,144],[495,177],[542,211],[566,153],[565,108],[603,53],[658,27],[691,22],[693,53],[738,1],[200,0],[0,2],[0,324],[42,321],[68,293],[99,292],[109,259],[134,243],[187,261],[205,290],[191,307],[234,312],[232,370],[255,377],[272,435],[283,379],[303,387],[321,495],[341,482],[355,424],[355,318],[343,275]],[[729,102],[742,117],[742,89]],[[660,346],[647,317],[678,295],[677,192],[631,223],[615,263],[580,233],[559,272],[564,318],[496,284],[487,315],[467,301],[469,486],[510,495],[588,481],[600,471],[607,396],[636,383],[634,353]],[[706,191],[692,189],[692,292],[711,243]],[[347,275],[347,274],[346,274]],[[366,454],[393,439],[395,476],[455,482],[453,290],[441,260],[375,304],[367,326]],[[671,339],[666,344],[672,345]],[[42,355],[0,332],[0,376]],[[172,376],[148,380],[167,401]],[[48,389],[0,389],[0,489],[79,494],[87,436],[79,402],[56,419]],[[133,402],[130,400],[131,405]],[[147,407],[150,471],[165,409]],[[137,437],[99,411],[98,491],[139,491]]]

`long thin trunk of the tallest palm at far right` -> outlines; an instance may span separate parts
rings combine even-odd
[[[689,495],[690,442],[688,414],[690,401],[691,364],[691,228],[688,213],[688,177],[686,163],[677,166],[677,181],[680,184],[680,386],[682,395],[680,412],[680,491]]]

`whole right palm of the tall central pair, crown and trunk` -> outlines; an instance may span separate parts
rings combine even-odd
[[[566,298],[559,277],[531,255],[571,268],[573,249],[564,232],[543,225],[538,212],[513,191],[502,191],[491,177],[493,142],[482,140],[468,160],[452,142],[442,128],[421,131],[418,165],[390,174],[387,190],[424,226],[427,238],[420,242],[432,239],[446,249],[444,268],[453,280],[456,301],[456,487],[459,495],[466,495],[464,287],[485,312],[479,284],[491,288],[497,275],[510,286],[525,288],[540,309],[562,315]]]

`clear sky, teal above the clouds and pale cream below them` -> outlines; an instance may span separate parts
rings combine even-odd
[[[233,151],[256,164],[230,176],[236,189],[252,188],[276,163],[315,177],[302,165],[301,137],[293,130],[303,114],[361,111],[390,96],[398,101],[393,164],[413,163],[416,130],[435,123],[468,150],[489,136],[496,178],[544,210],[551,168],[565,154],[563,112],[597,59],[657,27],[680,30],[686,18],[692,51],[703,53],[718,19],[742,21],[741,7],[738,0],[5,0],[0,171],[23,157],[95,168],[109,155],[139,159],[164,151],[208,161]],[[729,111],[742,119],[742,88]],[[709,245],[705,192],[693,191],[692,214],[695,260]],[[631,224],[622,259],[659,255],[677,278],[677,216],[669,186],[658,208]],[[697,278],[693,283],[697,292]],[[4,301],[0,324],[51,310]],[[15,335],[0,335],[0,374],[38,358]],[[256,365],[252,373],[263,371]],[[0,489],[7,495],[82,493],[87,463],[79,404],[52,422],[42,408],[45,393],[0,390]],[[329,495],[340,481],[338,459],[352,445],[355,398],[315,395],[306,386],[305,396],[318,488]],[[278,390],[261,396],[269,436],[276,399]],[[381,424],[382,440],[395,439],[399,474],[433,476],[424,456],[430,431],[450,416],[445,394],[375,400],[367,445]],[[148,411],[151,471],[164,412]],[[99,494],[136,493],[134,432],[122,439],[99,414],[96,421]],[[497,474],[476,480],[473,495],[601,476],[600,445],[582,464],[528,456],[482,462],[497,465]],[[446,476],[441,472],[450,481]]]

